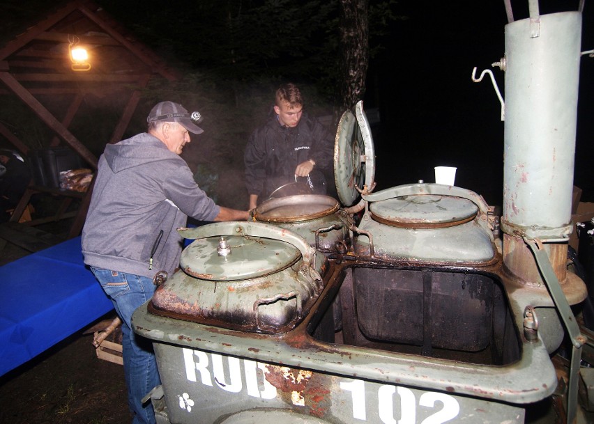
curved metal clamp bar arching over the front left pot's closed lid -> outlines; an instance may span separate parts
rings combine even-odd
[[[213,222],[196,228],[178,228],[177,232],[181,237],[190,240],[220,237],[221,235],[255,236],[280,240],[295,246],[301,252],[303,261],[310,266],[314,265],[312,261],[315,258],[315,249],[310,247],[307,240],[293,231],[267,223],[250,221]]]

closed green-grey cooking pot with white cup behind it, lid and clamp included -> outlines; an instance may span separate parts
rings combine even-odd
[[[364,195],[355,251],[382,260],[485,265],[496,260],[492,208],[478,194],[443,184],[404,184]]]

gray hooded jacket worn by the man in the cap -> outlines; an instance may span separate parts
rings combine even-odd
[[[220,207],[181,157],[151,134],[108,144],[82,230],[84,263],[153,278],[179,266],[189,217],[212,221]],[[153,267],[149,262],[153,258]]]

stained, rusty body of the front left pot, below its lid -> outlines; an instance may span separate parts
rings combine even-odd
[[[317,256],[321,276],[327,267],[326,258]],[[179,271],[155,290],[150,307],[156,315],[178,320],[278,333],[303,320],[324,283],[302,261],[270,275],[234,281],[204,280]]]

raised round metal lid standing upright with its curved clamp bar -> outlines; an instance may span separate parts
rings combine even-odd
[[[334,180],[340,202],[351,206],[364,185],[372,187],[375,176],[375,155],[370,125],[363,111],[363,102],[342,114],[334,144]]]

